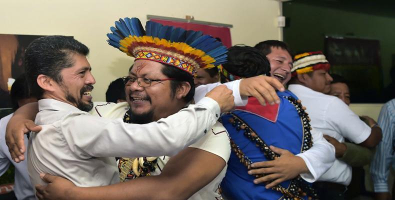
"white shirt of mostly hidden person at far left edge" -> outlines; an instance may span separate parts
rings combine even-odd
[[[35,199],[33,188],[27,173],[26,160],[16,163],[12,160],[9,154],[8,147],[5,144],[5,128],[13,113],[4,116],[0,119],[0,176],[8,169],[10,164],[15,166],[14,186],[13,191],[19,200]],[[24,145],[27,145],[27,138],[24,138]],[[24,152],[26,156],[26,152]]]

